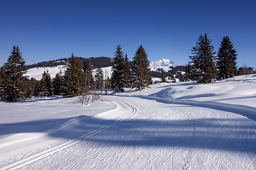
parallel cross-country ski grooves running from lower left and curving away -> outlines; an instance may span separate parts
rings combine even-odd
[[[70,141],[68,141],[66,143],[59,144],[58,146],[55,146],[53,148],[50,148],[50,149],[45,150],[43,152],[40,152],[38,154],[32,155],[30,157],[27,157],[25,159],[22,159],[20,161],[15,162],[15,163],[11,163],[11,164],[9,164],[7,166],[4,166],[4,167],[0,168],[0,170],[15,170],[15,169],[21,168],[22,166],[25,166],[25,165],[28,165],[30,163],[33,163],[33,162],[35,162],[35,161],[37,161],[39,159],[42,159],[43,157],[46,157],[46,156],[51,155],[51,154],[54,154],[55,152],[58,152],[59,150],[63,150],[63,149],[65,149],[65,148],[67,148],[67,147],[69,147],[69,146],[71,146],[73,144],[79,143],[80,141],[83,141],[83,140],[87,139],[88,137],[91,137],[91,136],[93,136],[93,135],[95,135],[95,134],[97,134],[99,132],[102,132],[103,130],[106,130],[107,128],[117,124],[118,122],[123,121],[124,119],[127,119],[128,117],[133,115],[135,112],[137,112],[137,109],[135,107],[133,107],[132,105],[128,104],[127,102],[124,102],[124,101],[121,101],[121,100],[118,100],[118,99],[111,99],[111,100],[119,103],[119,104],[115,103],[115,104],[119,105],[118,108],[120,108],[120,106],[121,106],[120,103],[122,103],[122,104],[125,104],[126,106],[128,106],[128,108],[131,108],[132,111],[128,112],[126,115],[120,117],[119,119],[116,119],[116,120],[114,120],[114,121],[112,121],[112,122],[110,122],[110,123],[108,123],[108,124],[106,124],[104,126],[101,126],[101,127],[97,128],[97,129],[95,129],[95,130],[93,130],[93,131],[91,131],[89,133],[86,133],[86,134],[84,134],[84,135],[82,135],[82,136],[80,136],[80,137],[78,137],[76,139],[72,139],[72,140],[70,140]],[[114,109],[114,110],[118,111],[118,109]],[[112,111],[113,110],[110,110],[109,112],[112,112]],[[106,112],[104,112],[104,115],[105,114],[106,114]],[[100,115],[100,113],[98,115]]]

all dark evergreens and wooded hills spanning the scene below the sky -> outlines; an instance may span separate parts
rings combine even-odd
[[[113,50],[114,51],[114,50]],[[135,51],[132,61],[124,55],[121,45],[110,57],[75,57],[72,53],[69,58],[39,62],[26,65],[19,46],[13,46],[7,62],[0,68],[0,99],[7,102],[24,101],[30,97],[49,97],[62,95],[63,97],[80,96],[80,102],[88,104],[89,100],[100,100],[103,89],[113,89],[123,92],[124,88],[130,91],[150,88],[152,77],[179,81],[195,81],[207,84],[217,80],[232,78],[236,75],[255,74],[253,68],[237,68],[237,54],[234,45],[228,36],[220,42],[220,48],[215,51],[208,35],[200,35],[191,49],[190,61],[186,66],[170,66],[168,71],[156,68],[150,71],[148,55],[140,45]],[[59,72],[51,79],[48,70],[41,80],[28,79],[24,74],[30,68],[54,67],[65,65],[67,70]],[[111,77],[104,77],[102,68],[112,66]],[[96,69],[93,76],[92,70]]]

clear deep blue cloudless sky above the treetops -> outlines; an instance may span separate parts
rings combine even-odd
[[[230,37],[237,66],[256,68],[255,0],[1,0],[0,66],[13,45],[26,64],[113,58],[119,44],[130,60],[143,45],[150,61],[186,64],[204,33],[215,51]]]

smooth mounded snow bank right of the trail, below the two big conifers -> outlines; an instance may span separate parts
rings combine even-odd
[[[213,108],[244,115],[256,121],[256,74],[237,76],[212,84],[158,83],[135,91],[136,97],[164,103]],[[127,95],[119,93],[117,95]]]

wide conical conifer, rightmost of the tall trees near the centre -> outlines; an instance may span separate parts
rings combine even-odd
[[[140,45],[133,57],[131,89],[135,89],[136,91],[150,88],[150,84],[152,84],[152,79],[148,55],[146,54],[143,46]]]

